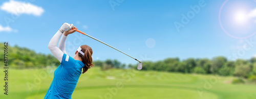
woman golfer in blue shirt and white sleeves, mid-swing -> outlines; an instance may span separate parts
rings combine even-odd
[[[87,45],[80,46],[74,58],[67,55],[65,51],[67,36],[76,31],[71,28],[76,27],[73,24],[63,23],[48,45],[60,65],[54,71],[53,81],[44,98],[71,98],[81,73],[86,73],[94,65],[92,64],[92,48]]]

